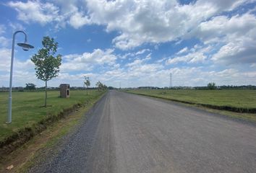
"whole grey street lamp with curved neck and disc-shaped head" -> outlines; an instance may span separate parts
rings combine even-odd
[[[12,36],[12,59],[11,59],[11,70],[10,70],[10,82],[9,82],[9,107],[8,107],[8,117],[7,117],[7,124],[12,123],[12,69],[13,69],[13,59],[14,59],[14,44],[15,44],[15,36],[17,33],[22,32],[25,35],[24,43],[18,43],[23,50],[27,51],[30,48],[34,48],[33,45],[29,45],[27,43],[27,35],[24,31],[16,31]]]

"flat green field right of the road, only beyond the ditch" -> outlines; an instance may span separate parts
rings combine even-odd
[[[135,89],[127,92],[203,105],[256,108],[256,90]]]

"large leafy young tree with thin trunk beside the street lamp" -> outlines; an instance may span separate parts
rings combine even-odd
[[[31,58],[31,61],[35,63],[35,75],[38,79],[46,83],[46,97],[44,103],[46,107],[47,81],[58,76],[59,66],[61,66],[61,55],[58,54],[55,56],[58,43],[54,42],[54,38],[43,37],[42,45],[43,48],[38,50],[38,53]]]

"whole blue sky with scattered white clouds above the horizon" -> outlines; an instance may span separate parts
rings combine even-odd
[[[62,55],[48,86],[256,85],[256,0],[0,1],[0,86],[44,86],[30,58],[54,37]],[[15,43],[24,42],[18,33]]]

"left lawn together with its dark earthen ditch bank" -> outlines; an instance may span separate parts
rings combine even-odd
[[[46,130],[51,123],[69,115],[77,108],[88,105],[103,94],[91,90],[88,95],[86,91],[72,91],[68,99],[59,98],[59,92],[49,92],[48,105],[43,104],[43,92],[16,92],[13,94],[13,120],[12,124],[5,124],[1,116],[0,124],[0,160],[29,141],[33,136]],[[6,96],[6,97],[4,97]],[[7,93],[0,94],[2,105],[7,107]],[[5,102],[4,102],[5,101]],[[0,110],[1,115],[7,115],[7,109]]]

